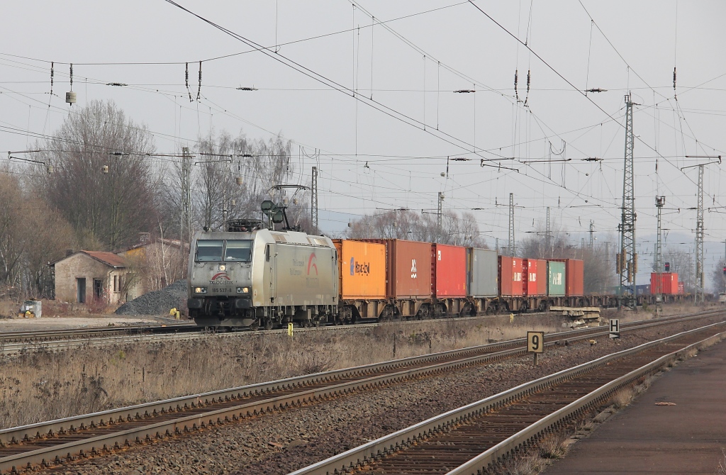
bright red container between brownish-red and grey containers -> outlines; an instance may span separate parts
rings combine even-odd
[[[436,297],[466,296],[466,248],[431,244],[431,287]]]

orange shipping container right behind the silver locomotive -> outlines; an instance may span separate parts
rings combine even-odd
[[[334,239],[340,300],[386,298],[386,245]]]

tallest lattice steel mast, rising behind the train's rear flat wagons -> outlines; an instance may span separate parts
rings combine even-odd
[[[635,253],[635,182],[633,177],[633,102],[630,94],[625,96],[625,162],[623,167],[623,204],[621,208],[620,253],[617,272],[620,275],[618,295],[619,306],[635,309],[635,275],[637,254]],[[628,294],[626,295],[625,289]]]

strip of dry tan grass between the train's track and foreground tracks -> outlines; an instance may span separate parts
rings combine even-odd
[[[375,328],[211,336],[38,351],[0,359],[0,429],[140,402],[521,338],[531,322],[390,323]],[[537,327],[538,325],[534,325]]]

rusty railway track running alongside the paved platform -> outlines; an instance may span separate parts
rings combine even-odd
[[[609,354],[451,410],[290,475],[489,473],[616,391],[726,336],[726,322]]]

